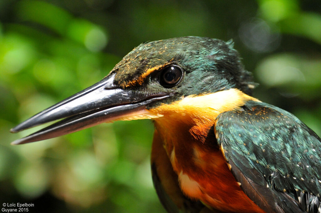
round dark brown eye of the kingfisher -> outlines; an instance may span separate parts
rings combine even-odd
[[[165,67],[160,72],[159,82],[165,88],[176,86],[181,80],[183,72],[178,66]]]

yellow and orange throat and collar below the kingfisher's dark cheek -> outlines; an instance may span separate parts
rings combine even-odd
[[[199,96],[187,96],[148,111],[151,115],[155,115],[152,119],[162,135],[177,139],[175,135],[178,135],[178,132],[184,132],[188,137],[191,136],[205,143],[217,115],[225,111],[240,110],[249,100],[259,101],[239,89],[228,89]],[[164,142],[167,143],[167,141],[171,140]],[[182,144],[180,140],[177,142]]]

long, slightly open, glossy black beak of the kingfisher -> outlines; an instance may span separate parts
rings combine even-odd
[[[43,110],[10,131],[13,133],[56,122],[11,144],[23,144],[55,138],[77,132],[104,122],[147,113],[146,105],[173,94],[149,93],[121,89],[113,84],[115,75],[109,75],[98,83]]]

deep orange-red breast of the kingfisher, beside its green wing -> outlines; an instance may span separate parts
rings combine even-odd
[[[209,128],[204,128],[207,139],[201,142],[187,125],[164,128],[155,122],[155,126],[187,197],[224,212],[264,213],[240,188],[216,145],[214,132],[208,133]]]

